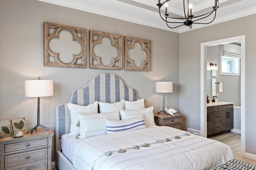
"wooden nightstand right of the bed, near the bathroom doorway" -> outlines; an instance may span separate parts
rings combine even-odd
[[[182,114],[175,113],[174,116],[166,115],[164,113],[154,114],[155,123],[158,126],[168,126],[173,128],[181,128]]]

